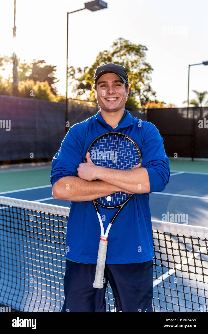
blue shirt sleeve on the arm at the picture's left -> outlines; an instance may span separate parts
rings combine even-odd
[[[76,126],[69,129],[61,147],[53,157],[51,170],[51,184],[64,176],[77,176],[77,168],[83,160],[83,139],[84,129],[76,129]]]

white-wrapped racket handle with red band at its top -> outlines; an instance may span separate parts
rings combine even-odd
[[[97,288],[97,289],[103,288],[103,278],[104,278],[104,271],[105,271],[107,247],[108,247],[108,239],[101,235],[93,288]]]

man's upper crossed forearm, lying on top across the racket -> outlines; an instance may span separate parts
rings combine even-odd
[[[96,178],[110,184],[131,191],[135,194],[150,192],[149,175],[146,168],[132,168],[118,170],[105,167],[96,167]]]

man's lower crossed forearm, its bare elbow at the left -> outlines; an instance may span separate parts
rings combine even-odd
[[[86,181],[76,176],[65,176],[53,185],[53,197],[65,201],[91,201],[125,190],[104,181]]]

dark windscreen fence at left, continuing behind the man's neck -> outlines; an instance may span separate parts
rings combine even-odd
[[[69,127],[98,110],[96,102],[69,99]],[[139,110],[130,113],[146,120]],[[65,103],[0,95],[0,164],[51,160],[65,137],[65,121]]]

